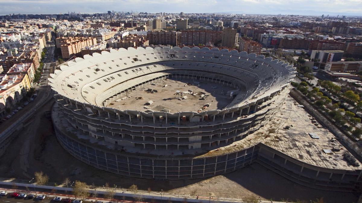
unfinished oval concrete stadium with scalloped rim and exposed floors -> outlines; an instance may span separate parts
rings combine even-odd
[[[68,61],[49,84],[62,146],[125,176],[190,179],[258,156],[248,139],[289,93],[292,65],[227,49],[139,47]],[[248,140],[248,142],[243,142]]]

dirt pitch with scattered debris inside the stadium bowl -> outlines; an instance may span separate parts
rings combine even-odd
[[[144,108],[145,106],[153,111],[161,111],[161,109],[166,108],[170,109],[171,113],[174,113],[179,111],[197,111],[206,103],[210,103],[210,107],[205,110],[222,109],[232,101],[232,99],[230,99],[230,94],[227,95],[226,92],[235,90],[235,88],[211,82],[197,82],[199,82],[199,86],[186,85],[195,83],[195,81],[192,81],[191,79],[182,79],[180,81],[167,79],[162,82],[154,83],[155,85],[147,85],[140,90],[137,89],[132,91],[108,106],[119,109],[136,109],[138,111],[147,111],[147,109]],[[147,91],[149,88],[156,89],[158,92],[151,93],[150,91]],[[175,95],[177,90],[181,91],[181,97],[187,96],[187,98],[178,100],[177,95]],[[189,90],[197,95],[193,96],[191,94],[182,93]],[[201,99],[202,93],[200,93],[200,91],[205,92],[210,96],[207,96],[207,98],[203,100]],[[140,97],[143,99],[136,99]],[[146,105],[150,100],[154,103]]]

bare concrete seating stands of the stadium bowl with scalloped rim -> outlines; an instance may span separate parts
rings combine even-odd
[[[277,92],[291,81],[295,68],[271,57],[236,50],[138,47],[93,53],[84,59],[68,61],[51,74],[49,81],[59,95],[109,108],[104,106],[122,92],[165,75],[189,73],[196,77],[211,75],[213,82],[245,90],[239,91],[227,109],[257,102]]]

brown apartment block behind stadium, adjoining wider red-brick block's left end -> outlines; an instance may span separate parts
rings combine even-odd
[[[148,31],[149,44],[155,45],[177,45],[177,32],[175,31]]]

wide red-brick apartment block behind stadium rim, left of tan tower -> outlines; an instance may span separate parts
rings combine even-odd
[[[209,30],[183,30],[180,33],[181,45],[198,45],[207,43],[216,43],[222,40],[222,31],[209,31]]]

